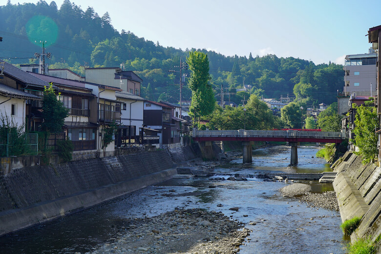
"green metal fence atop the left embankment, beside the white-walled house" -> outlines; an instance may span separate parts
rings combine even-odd
[[[6,140],[0,144],[0,157],[38,155],[38,134],[29,133],[24,137],[7,134]]]

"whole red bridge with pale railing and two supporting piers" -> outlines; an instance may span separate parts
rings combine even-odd
[[[252,161],[252,141],[281,141],[289,142],[291,149],[291,165],[297,164],[297,144],[299,142],[341,143],[346,139],[345,133],[299,130],[226,130],[226,131],[192,131],[193,140],[201,145],[208,141],[242,141],[243,162]]]

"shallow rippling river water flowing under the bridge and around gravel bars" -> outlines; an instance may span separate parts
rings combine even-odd
[[[288,167],[290,149],[264,148],[255,151],[253,163],[242,158],[221,165],[215,174],[254,174],[266,171],[329,171],[316,158],[317,147],[298,148],[298,167]],[[125,232],[126,218],[159,215],[174,208],[205,208],[222,211],[253,230],[240,254],[344,254],[339,213],[309,207],[295,198],[283,197],[284,182],[216,181],[213,177],[171,179],[121,196],[85,211],[0,237],[1,254],[68,254],[89,252],[117,232]],[[332,190],[330,184],[311,184],[315,192]],[[211,188],[213,187],[213,188]],[[220,207],[217,205],[222,204]],[[229,210],[239,207],[238,212]],[[245,215],[245,216],[244,216]],[[247,215],[247,216],[246,216]],[[255,221],[256,225],[249,225]]]

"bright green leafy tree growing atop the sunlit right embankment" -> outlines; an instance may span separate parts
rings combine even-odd
[[[374,107],[374,99],[365,101],[365,105],[352,107],[356,109],[355,128],[353,133],[355,138],[352,140],[359,148],[356,154],[362,156],[362,163],[373,161],[378,153],[376,127],[378,125],[377,108]]]

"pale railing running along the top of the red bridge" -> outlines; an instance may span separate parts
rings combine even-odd
[[[227,131],[192,131],[192,137],[304,137],[304,138],[339,138],[345,139],[341,132],[309,132],[309,131],[260,131],[260,130],[227,130]]]

